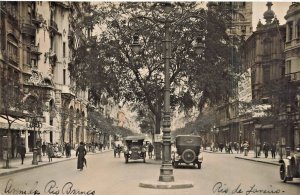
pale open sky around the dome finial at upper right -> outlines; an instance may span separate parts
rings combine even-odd
[[[273,6],[271,9],[275,12],[276,17],[279,19],[279,24],[285,24],[284,16],[287,13],[287,10],[289,6],[291,5],[292,1],[282,1],[282,2],[272,2]],[[265,24],[265,19],[263,17],[263,14],[265,11],[267,11],[268,7],[266,6],[267,1],[253,1],[252,5],[252,25],[253,25],[253,31],[255,31],[257,23],[259,19],[261,19],[261,22]]]

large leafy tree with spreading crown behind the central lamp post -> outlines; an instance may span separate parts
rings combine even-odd
[[[105,91],[116,101],[147,105],[156,118],[156,133],[160,132],[164,94],[165,26],[158,18],[170,21],[172,29],[172,108],[198,106],[202,110],[206,104],[227,100],[231,90],[234,47],[226,34],[228,10],[206,10],[196,2],[172,5],[173,11],[166,14],[161,3],[100,4],[91,11],[89,22],[77,25],[88,27],[93,21],[94,29],[101,32],[77,49],[70,66],[78,86],[88,86],[95,97]],[[134,34],[142,44],[139,55],[130,48]],[[198,37],[206,46],[201,56],[193,47]]]

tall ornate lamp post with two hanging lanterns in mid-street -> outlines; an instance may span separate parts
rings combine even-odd
[[[166,14],[169,14],[173,6],[169,2],[160,3],[163,8],[164,12]],[[156,5],[156,4],[155,4]],[[163,51],[163,59],[165,61],[165,67],[164,67],[164,113],[163,113],[163,151],[162,151],[162,165],[160,168],[160,176],[159,181],[161,182],[173,182],[174,176],[173,176],[173,167],[171,164],[171,120],[170,120],[170,60],[171,60],[171,32],[174,32],[175,28],[179,25],[185,22],[189,18],[201,18],[203,17],[195,14],[191,15],[184,15],[182,18],[179,18],[178,20],[169,20],[164,19],[153,19],[148,17],[136,17],[135,19],[146,19],[154,24],[160,23],[164,25],[164,33],[165,33],[165,40],[164,42],[164,51]],[[203,39],[202,39],[203,40]],[[134,53],[138,53],[141,49],[141,45],[139,44],[139,37],[138,34],[134,34],[133,36],[133,43],[131,44],[131,48]],[[194,46],[195,51],[197,54],[202,54],[204,50],[204,45],[201,43],[201,39],[197,38],[197,44]]]

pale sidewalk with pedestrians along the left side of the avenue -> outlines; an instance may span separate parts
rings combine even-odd
[[[95,153],[93,152],[88,152],[87,155],[95,155],[95,154],[101,154],[104,152],[110,152],[112,151],[111,149],[109,150],[103,150],[102,152],[100,152],[99,150],[96,150]],[[42,156],[42,162],[38,162],[38,165],[33,165],[32,164],[32,155],[33,153],[26,153],[25,155],[25,159],[24,159],[24,164],[21,164],[21,158],[18,156],[18,158],[14,158],[14,159],[10,159],[9,161],[9,169],[3,168],[4,167],[4,161],[1,160],[0,161],[0,177],[4,176],[4,175],[9,175],[12,173],[17,173],[20,171],[25,171],[25,170],[29,170],[29,169],[33,169],[33,168],[37,168],[37,167],[42,167],[42,166],[46,166],[46,165],[51,165],[54,163],[58,163],[61,161],[66,161],[66,160],[72,160],[72,159],[76,159],[76,151],[72,150],[71,151],[71,157],[66,158],[66,156],[62,156],[61,158],[52,158],[52,162],[49,162],[48,160],[48,156]],[[39,160],[39,158],[38,158]]]

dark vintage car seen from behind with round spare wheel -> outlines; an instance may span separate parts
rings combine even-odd
[[[195,135],[177,135],[175,138],[175,148],[172,151],[172,165],[174,168],[179,164],[197,165],[201,169],[203,161],[200,152],[201,137]]]

